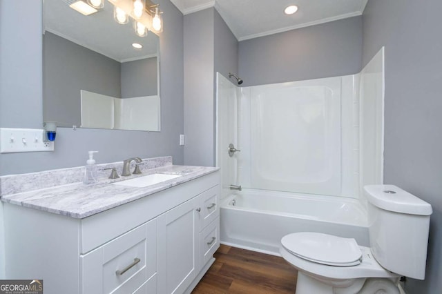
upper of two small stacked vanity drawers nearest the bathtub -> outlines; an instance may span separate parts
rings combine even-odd
[[[219,187],[218,185],[214,186],[200,194],[200,232],[220,216]]]

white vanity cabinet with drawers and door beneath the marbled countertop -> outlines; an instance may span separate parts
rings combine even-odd
[[[4,204],[6,279],[45,294],[190,293],[219,247],[218,171],[76,219]]]

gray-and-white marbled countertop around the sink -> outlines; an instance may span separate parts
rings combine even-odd
[[[92,185],[84,185],[81,182],[77,182],[23,193],[3,195],[1,201],[82,219],[157,193],[161,190],[189,182],[203,175],[214,173],[216,170],[219,170],[219,168],[203,166],[162,166],[145,170],[142,175],[120,177],[119,179],[113,180],[103,179],[97,184]],[[153,173],[181,175],[182,177],[169,179],[165,182],[144,188],[112,184],[113,182],[120,182]]]

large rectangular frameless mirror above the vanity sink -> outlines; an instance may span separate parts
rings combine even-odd
[[[85,16],[66,0],[45,0],[43,13],[44,121],[159,131],[159,37],[137,36],[131,19],[114,21],[108,1]]]

